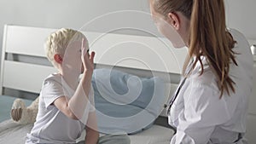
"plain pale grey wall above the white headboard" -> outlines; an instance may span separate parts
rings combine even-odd
[[[240,30],[246,37],[256,39],[256,1],[224,1],[228,26]],[[119,12],[108,14],[116,11]],[[143,12],[149,12],[148,0],[0,0],[0,50],[4,24],[80,29],[87,23],[82,30],[108,32],[132,27],[132,31],[119,32],[140,35],[152,32],[158,35],[150,15]]]

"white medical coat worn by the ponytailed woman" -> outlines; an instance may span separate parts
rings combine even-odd
[[[240,32],[230,30],[236,40],[235,64],[230,65],[230,78],[236,83],[236,93],[224,93],[220,99],[217,78],[201,57],[204,72],[198,62],[186,79],[169,114],[169,124],[177,128],[171,144],[226,144],[237,141],[246,132],[247,98],[253,88],[253,56],[247,40]]]

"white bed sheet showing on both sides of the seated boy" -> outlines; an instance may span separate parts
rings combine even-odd
[[[24,144],[26,133],[32,129],[32,124],[16,124],[9,119],[0,124],[1,144]],[[160,125],[153,125],[136,135],[129,135],[131,144],[169,144],[174,131]]]

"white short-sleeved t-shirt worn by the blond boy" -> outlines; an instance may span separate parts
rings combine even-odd
[[[52,103],[65,95],[68,98],[74,94],[60,74],[51,74],[44,80],[39,95],[37,120],[30,134],[26,135],[26,143],[75,143],[84,130],[89,112],[94,112],[94,96],[91,87],[89,105],[84,110],[84,117],[80,120],[67,118]]]

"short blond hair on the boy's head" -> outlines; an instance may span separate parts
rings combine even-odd
[[[51,33],[44,44],[48,60],[56,67],[54,55],[65,55],[69,43],[77,40],[82,41],[83,38],[84,41],[87,41],[82,32],[68,28],[61,28]]]

